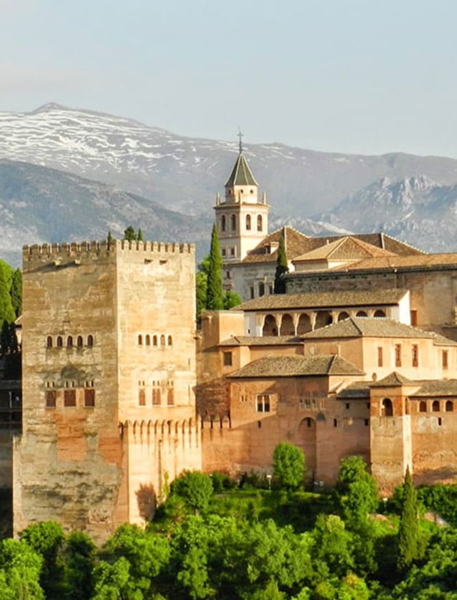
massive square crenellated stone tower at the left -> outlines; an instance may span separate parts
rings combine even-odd
[[[55,519],[103,539],[200,469],[194,248],[23,250],[23,434],[14,532]]]

